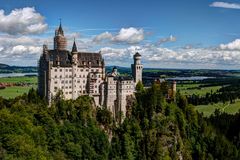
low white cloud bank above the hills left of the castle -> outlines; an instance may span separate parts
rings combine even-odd
[[[37,65],[46,38],[1,35],[0,63],[10,65]]]

